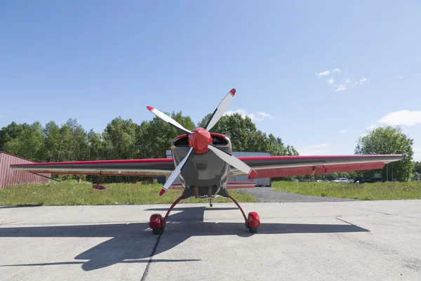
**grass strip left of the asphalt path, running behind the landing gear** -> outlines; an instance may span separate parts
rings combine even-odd
[[[159,196],[162,185],[142,183],[109,183],[105,190],[95,190],[92,183],[76,181],[49,184],[14,185],[0,189],[0,206],[66,206],[66,205],[114,205],[114,204],[161,204],[173,203],[182,190],[168,190]],[[230,190],[238,202],[258,202],[245,191]],[[206,200],[189,198],[181,202],[204,203]],[[214,202],[231,202],[218,197]]]

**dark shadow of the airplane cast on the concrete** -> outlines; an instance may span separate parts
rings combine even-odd
[[[152,235],[149,223],[112,223],[86,226],[41,226],[0,228],[0,237],[110,237],[95,247],[74,257],[76,260],[58,263],[9,264],[1,266],[55,266],[80,263],[83,270],[95,270],[116,263],[160,263],[200,261],[196,259],[152,259],[173,247],[182,244],[189,237],[213,235],[252,235],[285,233],[358,233],[368,232],[365,228],[351,224],[298,224],[262,222],[258,233],[249,233],[241,223],[204,222],[205,211],[222,211],[236,208],[179,207],[180,211],[168,217],[166,229],[161,235]],[[167,209],[147,209],[166,211]],[[239,214],[241,216],[241,214]],[[88,261],[86,261],[88,260]]]

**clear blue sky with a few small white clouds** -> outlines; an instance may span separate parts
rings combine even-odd
[[[291,2],[291,3],[290,3]],[[0,1],[0,127],[229,112],[300,155],[401,126],[421,160],[420,1]]]

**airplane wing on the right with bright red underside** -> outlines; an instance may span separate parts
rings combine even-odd
[[[278,178],[281,176],[382,169],[385,164],[402,158],[403,155],[239,157],[258,173],[258,176],[254,178]],[[238,169],[231,169],[230,176],[240,175],[245,174]]]

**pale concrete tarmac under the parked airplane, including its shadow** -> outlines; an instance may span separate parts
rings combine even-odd
[[[0,280],[421,280],[421,200],[0,207]]]

